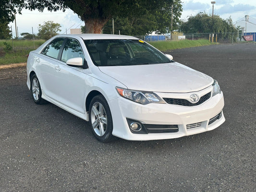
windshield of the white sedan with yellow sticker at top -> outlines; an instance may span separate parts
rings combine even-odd
[[[169,63],[163,53],[139,39],[84,40],[96,66],[124,66]]]

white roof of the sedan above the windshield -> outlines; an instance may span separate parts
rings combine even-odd
[[[56,36],[57,37],[57,36]],[[138,39],[134,36],[110,35],[110,34],[66,34],[58,37],[81,37],[82,39]]]

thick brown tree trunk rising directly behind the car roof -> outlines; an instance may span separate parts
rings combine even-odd
[[[100,34],[108,19],[87,18],[85,19],[85,33]]]

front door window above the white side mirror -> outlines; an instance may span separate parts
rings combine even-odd
[[[74,39],[68,39],[61,55],[61,60],[66,62],[68,59],[81,57],[85,59],[82,48],[78,41]]]

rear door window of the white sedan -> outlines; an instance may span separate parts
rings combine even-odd
[[[44,55],[47,55],[49,57],[57,59],[63,41],[64,41],[64,38],[56,38],[56,39],[52,40],[48,44],[48,46],[46,46],[46,48],[44,48],[44,50],[41,53]]]

